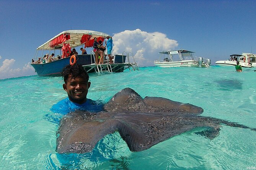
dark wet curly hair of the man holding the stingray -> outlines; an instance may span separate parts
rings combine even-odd
[[[83,66],[76,63],[73,66],[71,66],[70,64],[65,66],[62,69],[61,75],[66,84],[68,82],[68,78],[75,79],[76,77],[84,77],[87,81],[89,80],[89,75],[83,68]]]

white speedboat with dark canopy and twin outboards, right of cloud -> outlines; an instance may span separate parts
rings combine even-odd
[[[205,64],[194,59],[192,53],[194,52],[188,50],[162,51],[159,54],[163,59],[156,59],[154,64],[158,67],[204,67]]]

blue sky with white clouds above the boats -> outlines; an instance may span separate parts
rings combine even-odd
[[[36,48],[70,29],[112,35],[113,51],[132,50],[140,66],[153,66],[163,44],[212,64],[256,53],[255,0],[0,0],[0,6],[0,79],[35,74]]]

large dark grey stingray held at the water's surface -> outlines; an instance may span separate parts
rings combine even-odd
[[[67,114],[57,131],[56,151],[91,152],[101,138],[115,131],[120,133],[130,151],[143,151],[196,127],[207,127],[207,130],[197,134],[210,139],[220,133],[222,124],[249,128],[239,123],[201,116],[203,111],[201,107],[161,97],[143,99],[131,88],[125,88],[104,105],[102,112],[75,111]]]

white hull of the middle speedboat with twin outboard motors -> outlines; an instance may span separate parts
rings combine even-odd
[[[198,67],[198,61],[183,60],[183,61],[155,61],[154,64],[158,67]]]

